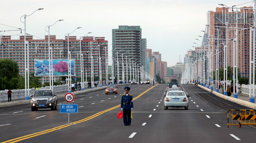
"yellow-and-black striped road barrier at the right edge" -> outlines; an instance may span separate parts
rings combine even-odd
[[[229,110],[228,111],[228,127],[229,125],[256,125],[256,110]],[[229,114],[231,114],[231,124],[229,123]]]

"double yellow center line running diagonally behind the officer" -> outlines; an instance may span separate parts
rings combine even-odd
[[[156,85],[155,85],[156,86]],[[155,87],[153,86],[153,87]],[[138,95],[136,98],[133,98],[133,100],[136,100],[137,98],[141,97],[144,93],[147,93],[149,90],[151,90],[153,87],[150,87],[148,90],[144,91],[142,94]],[[95,117],[98,117],[99,115],[103,114],[103,113],[106,113],[108,111],[111,111],[113,109],[117,109],[118,107],[120,107],[120,104],[117,105],[117,106],[114,106],[110,109],[106,109],[104,111],[101,111],[101,112],[98,112],[90,117],[87,117],[87,118],[84,118],[82,120],[79,120],[79,121],[76,121],[76,122],[72,122],[68,125],[61,125],[61,126],[58,126],[58,127],[54,127],[52,129],[49,129],[49,130],[44,130],[44,131],[41,131],[41,132],[36,132],[36,133],[33,133],[33,134],[30,134],[30,135],[25,135],[25,136],[22,136],[22,137],[19,137],[19,138],[14,138],[14,139],[11,139],[11,140],[7,140],[7,141],[4,141],[2,143],[16,143],[16,142],[19,142],[21,140],[25,140],[25,139],[28,139],[28,138],[33,138],[33,137],[36,137],[38,135],[43,135],[43,134],[46,134],[46,133],[49,133],[49,132],[53,132],[55,130],[60,130],[60,129],[63,129],[65,127],[69,127],[71,124],[78,124],[78,123],[82,123],[82,122],[85,122],[85,121],[88,121],[90,119],[93,119]]]

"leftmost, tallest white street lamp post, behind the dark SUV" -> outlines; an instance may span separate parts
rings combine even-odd
[[[44,8],[38,8],[37,10],[35,11],[39,11],[39,10],[43,10]],[[33,13],[35,13],[35,11]],[[33,13],[31,13],[30,15],[28,16],[31,16]],[[20,21],[21,21],[21,18],[22,16],[20,17]],[[29,100],[29,49],[27,49],[27,62],[26,62],[26,44],[28,45],[28,41],[26,41],[26,18],[27,18],[27,15],[24,14],[24,31],[25,31],[25,34],[24,34],[24,58],[25,58],[25,100]],[[27,68],[26,68],[27,66]],[[27,73],[26,73],[27,71]]]

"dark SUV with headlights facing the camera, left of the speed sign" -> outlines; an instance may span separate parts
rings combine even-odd
[[[51,108],[57,110],[57,94],[52,89],[35,90],[31,99],[31,111],[37,111],[39,108]]]

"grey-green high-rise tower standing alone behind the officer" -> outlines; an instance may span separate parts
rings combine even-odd
[[[130,70],[126,70],[126,62],[142,66],[142,29],[140,26],[118,26],[118,29],[112,29],[112,56],[114,64],[114,75],[126,79]],[[129,62],[128,62],[129,63]],[[128,66],[129,67],[129,66]],[[119,69],[119,70],[118,70]],[[137,70],[137,69],[136,69]],[[132,73],[135,73],[132,71]],[[130,80],[129,78],[128,80]],[[132,79],[131,79],[132,80]]]

